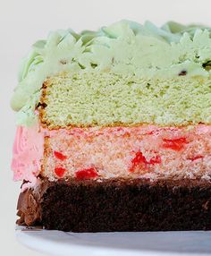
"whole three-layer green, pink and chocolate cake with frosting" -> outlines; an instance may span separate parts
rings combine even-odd
[[[211,29],[56,30],[21,63],[18,225],[211,229]]]

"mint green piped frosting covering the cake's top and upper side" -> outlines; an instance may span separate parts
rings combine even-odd
[[[210,29],[170,21],[157,28],[120,21],[97,32],[57,30],[32,46],[23,59],[12,107],[18,124],[36,122],[35,107],[47,77],[60,72],[130,74],[139,78],[209,77]]]

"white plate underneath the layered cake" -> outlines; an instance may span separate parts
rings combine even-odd
[[[17,227],[20,243],[56,256],[211,255],[211,231],[71,233]]]

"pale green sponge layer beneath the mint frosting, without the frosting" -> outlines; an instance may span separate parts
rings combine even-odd
[[[45,82],[48,127],[211,123],[209,79],[146,79],[114,73],[62,73]]]

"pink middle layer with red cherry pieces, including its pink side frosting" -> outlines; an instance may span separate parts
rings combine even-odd
[[[53,131],[19,127],[13,151],[14,179],[34,182],[40,173],[51,181],[70,176],[210,179],[210,138],[211,126],[204,124]]]

